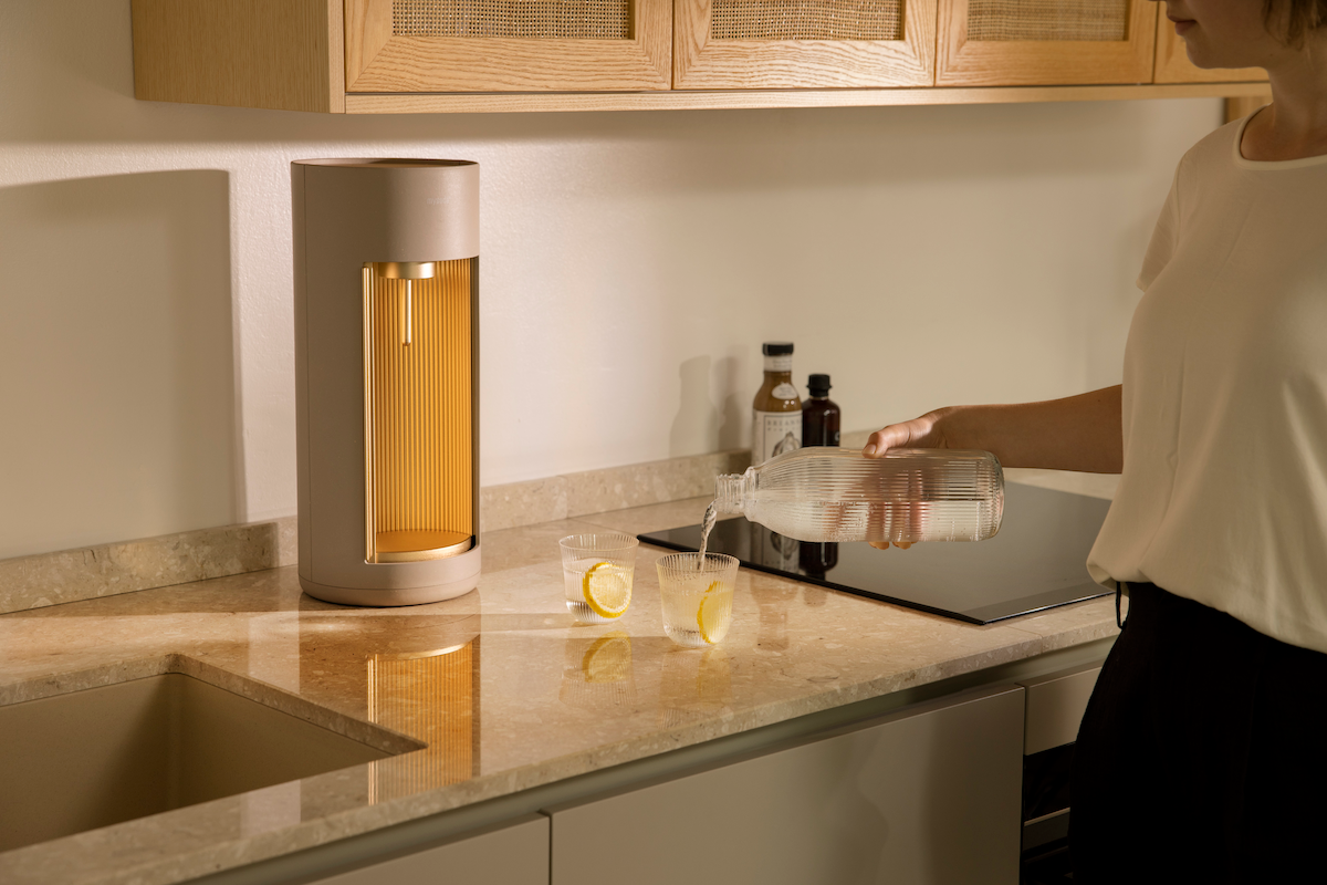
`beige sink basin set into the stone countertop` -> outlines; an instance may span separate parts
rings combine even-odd
[[[391,755],[183,673],[3,706],[0,748],[0,852]]]

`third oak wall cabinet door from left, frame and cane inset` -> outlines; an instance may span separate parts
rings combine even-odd
[[[1149,0],[940,0],[936,84],[1152,82]]]

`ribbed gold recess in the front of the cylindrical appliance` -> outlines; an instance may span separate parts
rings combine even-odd
[[[472,545],[470,259],[431,276],[364,268],[365,559],[443,559]]]

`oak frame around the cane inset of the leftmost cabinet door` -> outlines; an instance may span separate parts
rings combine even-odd
[[[527,40],[395,36],[391,33],[391,0],[345,0],[345,90],[669,89],[673,0],[629,1],[630,40]]]

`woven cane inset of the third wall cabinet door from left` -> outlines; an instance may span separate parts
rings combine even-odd
[[[969,40],[1127,40],[1128,0],[967,0]]]

